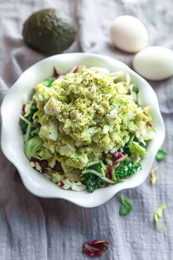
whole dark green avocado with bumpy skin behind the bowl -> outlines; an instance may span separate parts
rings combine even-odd
[[[72,18],[57,9],[39,10],[23,26],[25,43],[46,55],[62,53],[76,35],[77,27]]]

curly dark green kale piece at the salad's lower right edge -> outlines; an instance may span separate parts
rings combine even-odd
[[[132,174],[134,174],[137,169],[140,167],[140,170],[142,169],[141,164],[138,162],[134,164],[133,161],[123,161],[120,166],[118,166],[115,169],[115,177],[117,182],[121,181],[123,177],[131,177]]]

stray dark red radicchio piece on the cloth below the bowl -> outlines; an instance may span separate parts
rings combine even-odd
[[[99,257],[101,254],[108,249],[107,240],[93,240],[91,243],[85,242],[83,245],[82,253],[88,256]]]

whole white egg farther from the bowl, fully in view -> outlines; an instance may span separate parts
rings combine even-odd
[[[144,24],[130,15],[115,18],[110,27],[113,44],[127,52],[137,52],[148,45],[148,32]]]

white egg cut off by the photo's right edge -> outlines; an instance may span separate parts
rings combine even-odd
[[[149,80],[167,79],[173,75],[173,51],[161,46],[147,47],[134,56],[133,68]]]

